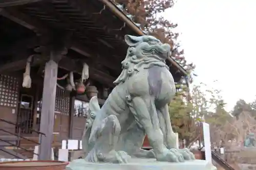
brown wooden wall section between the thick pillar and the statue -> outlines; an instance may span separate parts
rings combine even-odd
[[[83,110],[78,111],[77,102],[83,104]],[[87,104],[88,99],[86,96],[71,97],[69,92],[57,87],[54,124],[55,141],[61,142],[61,140],[67,139],[80,140],[82,138],[86,124],[86,112],[88,112],[88,109],[84,109],[88,108]]]

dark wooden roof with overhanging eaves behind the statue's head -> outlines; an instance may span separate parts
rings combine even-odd
[[[68,57],[62,62],[65,65],[63,68],[71,67],[70,63],[73,63],[70,69],[77,68],[77,61],[80,63],[80,60],[89,62],[91,74],[98,76],[98,79],[105,79],[102,83],[110,84],[120,74],[120,62],[127,50],[124,35],[144,35],[140,28],[109,0],[33,0],[33,3],[27,3],[28,1],[19,0],[19,3],[25,3],[17,6],[10,4],[10,1],[9,4],[0,3],[0,15],[4,16],[0,17],[0,25],[9,26],[2,32],[6,37],[5,45],[11,44],[13,47],[26,44],[29,50],[40,45],[37,35],[59,31],[71,33],[70,50]],[[10,20],[16,22],[16,25]],[[10,30],[13,27],[15,30]],[[6,39],[10,40],[9,44]],[[1,56],[0,53],[1,60],[7,59],[7,56],[10,54]],[[176,81],[187,74],[172,58],[168,59],[167,64],[172,64],[170,71]]]

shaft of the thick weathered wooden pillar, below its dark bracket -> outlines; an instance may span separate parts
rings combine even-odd
[[[50,59],[45,66],[44,88],[42,92],[40,132],[45,133],[46,136],[41,135],[39,160],[51,160],[57,71],[58,64]]]

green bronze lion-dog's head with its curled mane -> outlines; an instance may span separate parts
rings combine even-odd
[[[170,55],[169,44],[162,43],[159,39],[150,36],[131,36],[125,35],[124,40],[129,48],[125,59],[122,61],[122,72],[114,81],[118,85],[125,82],[136,71],[142,67],[144,69],[152,66],[167,67],[165,60]]]

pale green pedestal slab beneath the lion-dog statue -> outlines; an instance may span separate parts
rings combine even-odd
[[[66,170],[217,170],[212,163],[205,160],[193,160],[182,163],[158,162],[156,159],[133,158],[130,163],[112,164],[112,163],[90,163],[84,159],[72,161]]]

